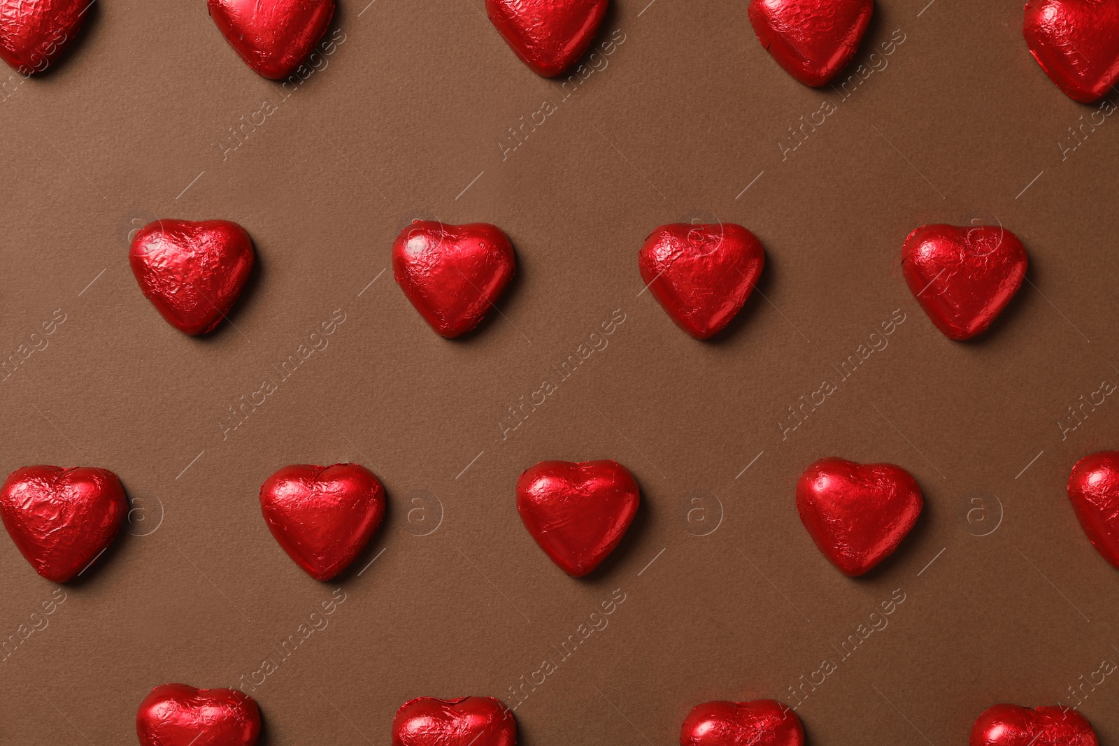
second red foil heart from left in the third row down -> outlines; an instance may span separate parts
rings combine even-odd
[[[283,550],[317,580],[361,553],[385,517],[385,489],[360,464],[284,466],[261,487],[261,512]]]

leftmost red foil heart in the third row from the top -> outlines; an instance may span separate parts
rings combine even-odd
[[[124,488],[91,466],[25,466],[0,488],[4,528],[31,567],[65,583],[112,544],[128,513]]]

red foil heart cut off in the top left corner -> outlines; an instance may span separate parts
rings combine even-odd
[[[20,75],[50,67],[74,41],[90,0],[0,0],[0,57]]]

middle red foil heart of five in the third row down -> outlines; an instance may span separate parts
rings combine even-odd
[[[517,512],[564,573],[582,577],[614,550],[640,503],[617,461],[542,461],[517,480]]]

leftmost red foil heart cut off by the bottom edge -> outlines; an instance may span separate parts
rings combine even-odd
[[[140,746],[255,746],[260,735],[256,701],[236,689],[166,683],[137,711]]]

